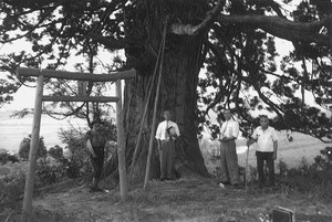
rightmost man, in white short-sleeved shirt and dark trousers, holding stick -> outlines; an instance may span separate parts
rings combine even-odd
[[[260,126],[257,127],[251,135],[250,139],[247,141],[247,145],[250,146],[253,142],[258,144],[256,151],[257,157],[257,171],[259,178],[259,188],[263,188],[266,183],[264,176],[264,161],[269,169],[269,184],[270,187],[274,186],[274,160],[277,159],[277,149],[278,149],[278,137],[277,131],[273,127],[269,126],[269,118],[267,115],[260,116]]]

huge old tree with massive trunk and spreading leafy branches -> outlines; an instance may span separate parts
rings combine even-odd
[[[33,52],[2,55],[2,70],[14,73],[18,65],[38,67],[41,60],[48,61],[49,68],[61,68],[72,52],[87,55],[93,67],[92,59],[102,47],[112,52],[124,50],[124,60],[116,67],[135,67],[138,72],[135,80],[126,81],[124,127],[127,166],[136,154],[129,175],[139,181],[145,172],[149,135],[154,134],[154,99],[147,97],[149,91],[156,93],[154,71],[166,25],[157,119],[162,120],[162,110],[170,109],[179,125],[178,175],[208,176],[197,134],[210,109],[218,114],[221,108],[234,107],[246,131],[253,121],[250,110],[266,108],[276,114],[274,126],[279,129],[328,138],[330,119],[319,108],[305,104],[304,95],[311,92],[319,105],[332,96],[332,3],[303,1],[289,13],[284,10],[289,2],[284,0],[281,6],[273,0],[3,0],[0,41],[25,39],[32,43]],[[295,49],[282,60],[281,71],[276,62],[276,36],[292,42]],[[298,62],[300,70],[293,65]],[[297,97],[297,91],[303,96]],[[248,92],[256,92],[257,96]],[[146,103],[149,108],[143,139],[135,150]],[[206,124],[218,130],[209,121]],[[158,176],[156,160],[153,157],[153,177]]]

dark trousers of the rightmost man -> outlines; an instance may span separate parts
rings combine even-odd
[[[273,152],[256,151],[256,157],[259,186],[264,186],[267,179],[267,176],[264,175],[264,161],[267,162],[267,167],[269,169],[269,186],[274,186]]]

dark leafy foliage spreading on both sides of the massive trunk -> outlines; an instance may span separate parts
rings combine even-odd
[[[179,21],[190,25],[204,23],[204,18],[214,13],[214,8],[215,11],[218,8],[220,14],[242,17],[242,21],[249,21],[241,23],[234,19],[234,22],[227,22],[224,18],[224,22],[222,17],[215,14],[214,22],[207,25],[203,49],[206,54],[206,71],[203,71],[204,77],[198,83],[197,126],[205,123],[215,133],[218,131],[218,126],[206,120],[206,116],[210,109],[220,114],[222,108],[232,107],[242,119],[241,126],[246,134],[255,121],[252,110],[266,109],[276,117],[273,126],[279,129],[298,130],[329,140],[331,121],[321,108],[329,106],[332,96],[330,43],[326,41],[324,45],[321,40],[310,42],[304,29],[303,36],[294,35],[293,40],[290,39],[287,32],[295,28],[294,23],[294,27],[288,27],[288,30],[279,33],[279,36],[292,41],[294,46],[279,64],[276,38],[262,31],[267,29],[276,33],[276,30],[251,21],[259,15],[274,15],[272,19],[276,21],[281,18],[294,20],[298,24],[318,23],[331,14],[332,4],[329,0],[302,1],[297,8],[293,7],[293,11],[284,10],[287,3],[294,6],[292,1],[284,1],[283,4],[271,0],[218,3],[197,1],[196,14],[200,14],[201,18],[184,18],[180,13],[181,8],[177,8],[181,6],[191,9],[194,3],[155,3],[165,8],[165,14],[170,18],[170,25]],[[147,39],[149,31],[144,30],[139,23],[144,17],[153,13],[148,11],[147,4],[153,7],[154,3],[126,0],[1,1],[3,20],[0,24],[0,42],[9,44],[17,40],[27,41],[31,49],[1,55],[1,70],[8,71],[9,77],[18,84],[4,83],[3,88],[0,88],[0,102],[10,101],[10,94],[15,92],[22,82],[33,81],[31,77],[14,75],[14,70],[22,65],[40,67],[43,63],[48,68],[62,68],[70,56],[75,54],[85,57],[85,62],[76,64],[77,71],[93,73],[96,66],[101,65],[98,56],[104,49],[108,52],[124,49],[126,57],[115,56],[108,64],[103,64],[106,72],[133,66],[144,70],[144,66],[151,66],[151,57],[155,52]],[[208,10],[211,11],[206,14]],[[330,34],[328,24],[329,22],[319,28],[320,35]],[[257,29],[258,27],[261,29]],[[169,47],[176,47],[176,36],[169,33],[167,38],[172,42]],[[74,95],[76,92],[76,86],[64,81],[50,81],[48,87],[53,91],[53,95]],[[89,94],[102,95],[107,87],[98,84],[92,88],[93,85],[89,84]],[[318,106],[312,106],[313,103],[308,104],[307,97],[314,97],[313,103]],[[54,107],[66,107],[66,112],[61,112],[62,115],[83,118],[89,118],[92,109],[97,115],[107,112],[105,105],[85,105],[52,104],[46,110],[54,115],[59,114],[52,113]]]

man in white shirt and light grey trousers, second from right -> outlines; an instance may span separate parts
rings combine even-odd
[[[239,188],[240,175],[235,142],[239,135],[239,123],[232,118],[230,109],[226,109],[224,116],[226,120],[219,135],[221,183]]]

